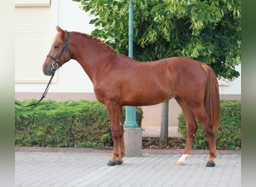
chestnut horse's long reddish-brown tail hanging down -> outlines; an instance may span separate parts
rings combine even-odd
[[[204,68],[204,71],[207,74],[204,107],[213,123],[213,130],[216,131],[219,128],[220,118],[219,85],[213,70],[207,66],[207,64],[202,63],[201,66]]]

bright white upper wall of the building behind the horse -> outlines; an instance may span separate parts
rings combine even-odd
[[[88,13],[85,13],[80,4],[75,1],[51,1],[51,18],[52,25],[51,37],[53,40],[56,30],[55,25],[67,31],[81,31],[91,34],[94,29],[89,21],[93,19]],[[49,48],[52,43],[49,43]],[[47,55],[47,54],[45,54]],[[43,65],[43,61],[42,61]],[[241,66],[237,67],[241,72]],[[43,73],[43,71],[42,71]],[[50,77],[49,77],[50,78]],[[241,94],[241,78],[235,79],[234,82],[223,82],[225,86],[221,86],[219,91],[221,94]],[[43,92],[46,88],[46,83],[42,84],[15,84],[16,92]],[[64,64],[55,73],[53,84],[49,88],[49,92],[56,93],[91,93],[93,92],[91,80],[85,74],[82,67],[76,61],[69,61]]]

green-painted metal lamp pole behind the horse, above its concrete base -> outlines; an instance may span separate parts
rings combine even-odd
[[[129,57],[133,58],[133,1],[129,1]],[[124,127],[135,128],[138,127],[136,122],[136,108],[135,106],[126,106],[126,117]]]

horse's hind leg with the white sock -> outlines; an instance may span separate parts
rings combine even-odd
[[[192,143],[194,141],[195,132],[198,129],[198,125],[195,121],[194,114],[192,114],[192,111],[190,111],[190,109],[186,105],[186,103],[183,102],[180,98],[177,98],[177,102],[180,104],[180,107],[183,110],[183,115],[184,115],[184,118],[186,121],[186,132],[187,132],[186,147],[183,152],[183,155],[177,161],[177,165],[185,165],[186,157],[189,156],[191,149],[192,149]]]

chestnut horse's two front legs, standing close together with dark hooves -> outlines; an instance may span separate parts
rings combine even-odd
[[[112,129],[112,138],[114,141],[113,156],[107,165],[121,165],[125,156],[124,147],[124,126],[122,123],[122,107],[113,102],[106,105],[109,111],[109,117]]]

